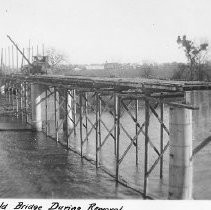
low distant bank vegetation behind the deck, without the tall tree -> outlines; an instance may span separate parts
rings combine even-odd
[[[142,77],[162,80],[190,80],[188,64],[177,62],[163,64],[142,64],[135,67],[129,66],[128,68],[104,69],[85,69],[85,66],[81,65],[58,65],[52,69],[52,74],[110,78]],[[195,72],[194,79],[192,80],[209,81],[210,78],[211,62],[207,62],[200,65],[200,70]]]

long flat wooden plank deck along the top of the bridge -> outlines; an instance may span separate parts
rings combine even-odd
[[[211,89],[211,82],[173,81],[144,78],[102,78],[62,75],[7,75],[5,79],[26,80],[33,83],[66,88],[94,90],[136,90],[140,92],[178,92]]]

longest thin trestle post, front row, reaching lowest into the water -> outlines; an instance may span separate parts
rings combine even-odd
[[[144,154],[144,196],[147,196],[148,183],[148,145],[149,145],[149,101],[145,98],[145,154]]]

